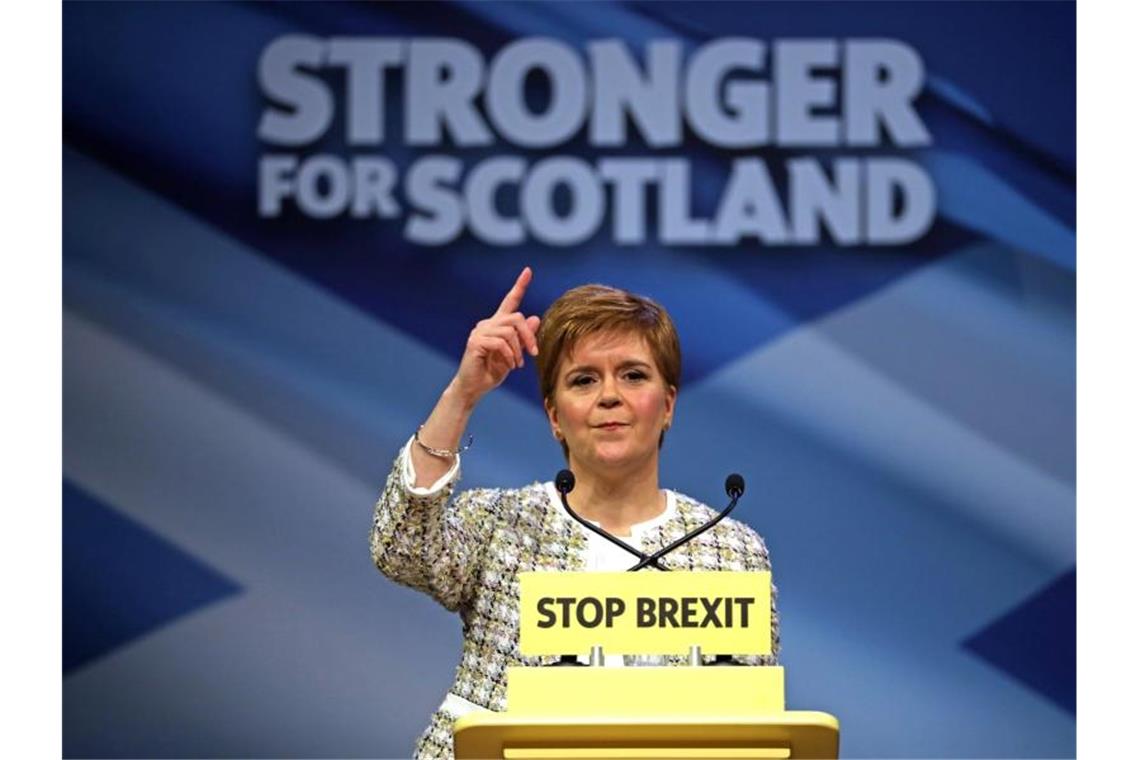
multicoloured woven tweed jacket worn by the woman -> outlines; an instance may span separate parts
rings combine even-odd
[[[456,471],[438,490],[416,495],[405,483],[404,456],[401,451],[376,502],[370,536],[373,562],[392,580],[430,594],[446,608],[459,613],[463,653],[450,690],[475,705],[504,710],[508,667],[556,660],[519,653],[518,574],[584,570],[587,532],[561,507],[555,508],[549,487],[542,483],[454,495]],[[675,496],[675,516],[646,532],[643,551],[665,547],[715,515],[694,499]],[[676,570],[772,569],[764,540],[732,518],[666,555],[661,564]],[[780,621],[775,600],[773,586],[772,654],[739,660],[776,664]],[[686,659],[665,656],[658,661],[683,664]],[[455,720],[446,708],[438,710],[416,744],[415,757],[453,758]]]

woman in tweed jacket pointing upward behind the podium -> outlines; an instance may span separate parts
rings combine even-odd
[[[658,450],[673,424],[681,346],[652,301],[597,285],[568,291],[542,320],[519,307],[527,268],[490,318],[471,332],[455,378],[396,459],[376,504],[372,556],[393,580],[431,594],[464,623],[455,683],[416,746],[450,758],[451,726],[473,710],[504,710],[508,665],[555,657],[519,654],[518,573],[627,570],[620,547],[573,522],[552,483],[475,489],[453,499],[459,443],[479,400],[527,354],[538,363],[543,406],[576,485],[570,506],[642,551],[660,549],[715,513],[658,484]],[[685,570],[771,570],[764,541],[731,518],[662,559]],[[772,655],[779,620],[773,587]],[[644,661],[644,659],[636,659]],[[606,656],[606,665],[635,659]],[[658,657],[679,664],[684,657]]]

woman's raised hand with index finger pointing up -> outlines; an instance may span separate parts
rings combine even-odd
[[[471,404],[498,387],[512,369],[522,367],[526,354],[538,356],[539,319],[519,311],[531,277],[530,267],[524,268],[495,313],[475,325],[467,337],[453,386]]]

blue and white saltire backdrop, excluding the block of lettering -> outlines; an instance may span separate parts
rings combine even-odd
[[[372,567],[372,504],[524,263],[682,332],[665,484],[763,533],[788,703],[848,757],[1075,754],[1075,10],[1069,3],[68,3],[64,751],[406,755],[459,622]],[[887,36],[927,68],[938,219],[903,250],[416,248],[259,220],[274,38]],[[693,147],[699,155],[702,148]],[[464,484],[561,457],[534,371]]]

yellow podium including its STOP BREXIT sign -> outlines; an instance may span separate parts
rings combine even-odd
[[[701,645],[708,643],[722,648],[707,652],[767,653],[768,645],[750,644],[742,651],[741,641],[755,640],[757,629],[767,631],[771,626],[768,573],[534,575],[546,578],[522,583],[523,653],[581,651],[583,641],[606,643],[626,653],[654,647],[676,652],[677,640],[690,640],[690,664],[606,668],[600,664],[602,646],[594,644],[589,648],[598,664],[593,667],[510,668],[506,710],[474,712],[456,721],[457,760],[838,758],[839,722],[833,716],[784,709],[783,668],[703,664],[700,656]],[[638,624],[650,620],[645,603],[637,606],[640,600],[668,599],[661,596],[666,583],[670,589],[692,583],[708,594],[727,588],[732,596],[724,598],[741,599],[742,582],[759,589],[756,602],[763,602],[752,607],[763,614],[750,621],[738,615],[735,626],[720,620],[719,627],[694,623],[687,630],[679,626],[670,630],[654,616],[653,626]],[[578,596],[564,596],[570,588]],[[552,621],[551,605],[542,603],[567,599],[596,599],[600,613],[591,614],[593,605],[586,605],[585,614],[581,606],[575,613],[573,603],[565,602],[562,620]],[[604,610],[614,613],[608,626],[602,624]],[[638,615],[622,619],[621,613],[629,610],[637,610]],[[537,611],[543,614],[532,614]],[[683,618],[678,614],[676,620]]]

